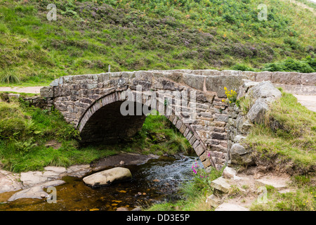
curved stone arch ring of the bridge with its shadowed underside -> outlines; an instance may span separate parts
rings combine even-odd
[[[136,96],[136,91],[133,93]],[[105,94],[105,96],[102,96],[91,103],[90,107],[79,119],[77,125],[83,143],[114,143],[124,136],[133,136],[137,131],[140,131],[145,122],[145,114],[123,116],[119,112],[121,103],[124,101],[134,102],[136,107],[137,104],[140,104],[143,108],[143,105],[145,105],[144,99],[142,99],[142,103],[139,103],[136,101],[135,96],[133,99],[129,99],[129,97],[126,96],[126,90],[114,90],[110,94]],[[208,148],[200,138],[199,134],[197,134],[197,131],[195,131],[190,124],[185,122],[185,117],[181,114],[176,115],[173,109],[171,113],[166,115],[166,108],[162,110],[159,106],[161,106],[161,104],[159,105],[159,102],[157,102],[157,104],[155,104],[154,107],[151,107],[150,110],[157,110],[159,115],[164,115],[176,126],[180,133],[185,136],[187,141],[189,141],[204,167],[216,167],[212,158],[209,157]]]

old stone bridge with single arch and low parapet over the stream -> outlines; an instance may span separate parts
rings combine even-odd
[[[205,168],[220,169],[229,159],[224,86],[237,90],[243,79],[270,80],[285,89],[315,93],[310,77],[300,73],[148,70],[60,77],[42,88],[41,96],[79,129],[84,144],[133,136],[143,126],[145,114],[157,110],[190,142]],[[127,115],[121,113],[124,102]]]

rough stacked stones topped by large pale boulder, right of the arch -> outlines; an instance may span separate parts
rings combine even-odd
[[[229,165],[252,165],[251,152],[242,146],[242,140],[249,134],[252,124],[264,122],[265,113],[270,104],[281,97],[281,91],[270,82],[252,82],[244,80],[238,98],[249,101],[248,110],[242,110],[233,104],[228,108],[228,153]]]

